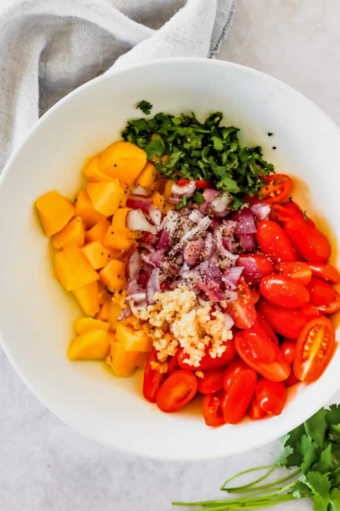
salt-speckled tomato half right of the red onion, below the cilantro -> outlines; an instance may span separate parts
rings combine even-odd
[[[296,252],[280,225],[264,220],[257,226],[256,240],[265,255],[274,262],[296,261]]]

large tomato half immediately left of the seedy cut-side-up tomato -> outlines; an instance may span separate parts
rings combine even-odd
[[[236,351],[252,369],[270,381],[283,381],[291,368],[275,344],[255,332],[239,332],[235,336]]]

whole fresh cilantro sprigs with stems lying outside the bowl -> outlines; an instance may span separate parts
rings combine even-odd
[[[280,467],[289,472],[284,477],[263,484]],[[297,470],[292,471],[293,467],[297,467]],[[230,481],[240,476],[262,470],[267,472],[248,484],[227,487]],[[263,509],[282,502],[309,498],[315,511],[339,511],[340,405],[322,408],[285,435],[275,464],[244,470],[227,479],[221,491],[242,493],[243,496],[227,500],[173,502],[173,505],[202,506],[196,511],[231,511]]]

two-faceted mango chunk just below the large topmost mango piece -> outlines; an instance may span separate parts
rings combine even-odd
[[[86,191],[94,209],[106,217],[113,215],[124,195],[118,179],[110,183],[87,183]]]

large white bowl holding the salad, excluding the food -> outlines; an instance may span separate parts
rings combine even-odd
[[[217,429],[205,426],[200,402],[162,413],[141,392],[142,371],[115,378],[104,363],[69,362],[72,322],[81,315],[55,280],[49,242],[34,202],[53,189],[74,198],[84,158],[117,140],[139,100],[159,111],[204,115],[260,144],[278,172],[294,176],[304,207],[333,243],[340,238],[340,132],[289,86],[247,67],[205,59],[159,60],[92,80],[51,108],[25,137],[1,176],[0,338],[24,382],[51,411],[116,449],[165,459],[203,459],[270,442],[317,411],[339,386],[338,350],[322,378],[290,392],[281,415]],[[269,137],[268,132],[274,136]],[[272,146],[277,149],[273,150]]]

